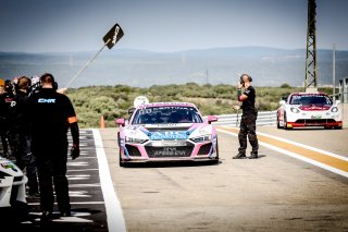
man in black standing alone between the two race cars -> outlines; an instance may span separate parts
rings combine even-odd
[[[240,76],[240,83],[237,85],[237,98],[241,101],[241,120],[240,130],[238,134],[239,149],[238,155],[233,157],[234,159],[245,159],[247,150],[247,137],[252,147],[251,156],[249,159],[258,158],[259,143],[256,133],[256,121],[258,118],[258,111],[254,108],[256,90],[251,86],[252,78],[248,74],[243,74]],[[241,93],[241,88],[245,88]]]

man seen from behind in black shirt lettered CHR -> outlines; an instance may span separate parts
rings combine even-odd
[[[71,215],[66,179],[67,130],[71,129],[73,159],[79,156],[78,125],[70,99],[57,93],[54,78],[46,73],[40,77],[41,89],[29,97],[32,151],[36,157],[40,186],[41,221],[50,220],[54,196],[62,217]]]

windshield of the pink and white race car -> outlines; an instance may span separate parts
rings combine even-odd
[[[132,124],[202,123],[194,107],[149,107],[137,110]]]

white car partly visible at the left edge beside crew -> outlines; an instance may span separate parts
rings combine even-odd
[[[11,160],[0,156],[0,208],[26,205],[27,178]]]

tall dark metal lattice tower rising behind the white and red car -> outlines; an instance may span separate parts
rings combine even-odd
[[[308,0],[307,54],[304,90],[316,91],[315,0]]]

